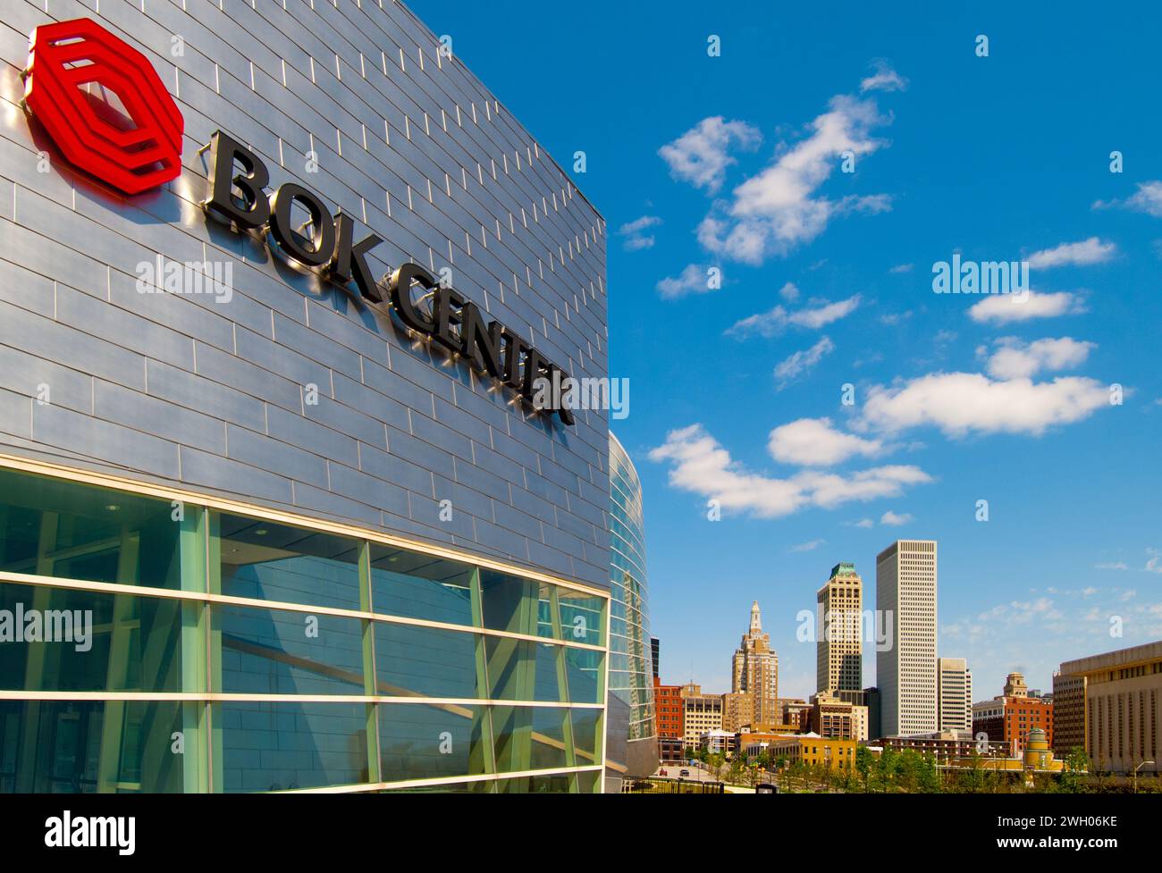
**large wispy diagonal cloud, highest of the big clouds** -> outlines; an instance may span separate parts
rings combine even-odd
[[[832,98],[827,111],[811,122],[809,136],[734,188],[732,201],[716,204],[698,226],[698,241],[716,254],[758,265],[810,243],[838,215],[890,209],[884,194],[840,200],[817,194],[844,152],[859,159],[884,145],[870,131],[889,121],[873,100]]]

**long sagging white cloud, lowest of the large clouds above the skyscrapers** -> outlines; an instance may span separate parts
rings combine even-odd
[[[897,497],[906,485],[931,482],[918,467],[876,467],[849,476],[804,470],[790,478],[751,472],[702,425],[690,425],[666,435],[650,453],[652,461],[668,461],[669,484],[717,500],[724,511],[779,518],[798,510],[830,508],[855,500]]]

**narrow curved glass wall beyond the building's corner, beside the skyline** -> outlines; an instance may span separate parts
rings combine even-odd
[[[654,727],[650,596],[646,585],[641,483],[622,443],[609,434],[610,565],[609,687],[630,707],[629,741]],[[612,728],[611,728],[612,729]]]

